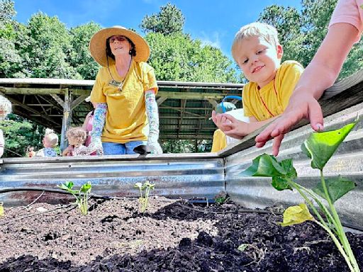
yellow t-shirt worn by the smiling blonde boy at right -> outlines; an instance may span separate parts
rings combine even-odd
[[[255,82],[247,83],[242,91],[245,116],[263,121],[283,113],[302,73],[300,63],[287,60],[277,69],[275,79],[263,88],[259,89]]]

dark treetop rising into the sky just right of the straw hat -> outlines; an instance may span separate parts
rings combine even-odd
[[[160,12],[145,16],[140,24],[140,28],[145,33],[162,33],[170,35],[182,33],[185,18],[181,10],[170,3],[160,8]]]

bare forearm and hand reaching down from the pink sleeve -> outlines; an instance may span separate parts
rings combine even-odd
[[[256,137],[257,147],[263,147],[268,140],[275,138],[272,153],[277,156],[284,134],[303,118],[310,120],[314,130],[323,130],[323,113],[318,98],[334,84],[357,35],[357,28],[349,23],[330,26],[318,52],[296,84],[289,106],[278,121]]]

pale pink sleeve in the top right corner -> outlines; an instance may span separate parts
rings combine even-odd
[[[350,23],[357,28],[358,42],[363,32],[363,0],[339,0],[329,26],[335,23]]]

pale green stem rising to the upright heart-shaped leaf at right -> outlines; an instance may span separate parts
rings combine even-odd
[[[343,229],[343,226],[342,226],[342,222],[340,222],[339,215],[337,215],[337,210],[335,210],[333,202],[332,202],[332,200],[330,198],[328,188],[326,187],[326,184],[325,184],[325,179],[324,179],[324,176],[323,176],[323,170],[320,170],[320,179],[321,179],[321,183],[323,185],[325,198],[328,201],[330,211],[332,212],[333,217],[335,219],[335,227],[337,228],[337,234],[338,234],[338,237],[340,238],[340,242],[342,242],[342,245],[343,245],[343,247],[345,249],[345,252],[347,252],[347,254],[348,254],[349,258],[350,258],[350,261],[352,262],[352,265],[354,267],[354,271],[360,271],[359,267],[358,267],[357,260],[355,259],[353,251],[352,251],[352,249],[350,247],[350,243],[349,243],[349,241],[347,239],[347,236],[345,235],[345,232],[344,232],[344,229]]]

